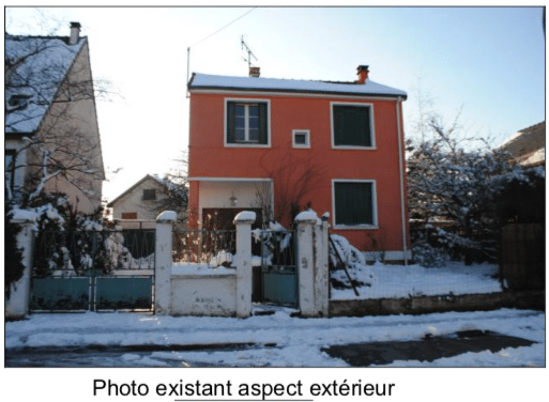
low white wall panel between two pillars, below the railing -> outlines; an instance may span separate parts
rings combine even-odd
[[[234,316],[237,275],[172,275],[171,315]]]

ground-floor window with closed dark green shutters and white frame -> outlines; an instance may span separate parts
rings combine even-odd
[[[375,180],[333,180],[335,227],[377,227]]]

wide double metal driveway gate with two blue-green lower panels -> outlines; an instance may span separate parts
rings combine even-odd
[[[43,231],[31,312],[153,311],[155,230]]]

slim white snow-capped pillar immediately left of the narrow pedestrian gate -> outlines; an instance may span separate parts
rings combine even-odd
[[[251,314],[251,224],[255,222],[255,212],[242,211],[234,218],[237,227],[237,254],[234,262],[237,267],[237,316],[246,318]]]

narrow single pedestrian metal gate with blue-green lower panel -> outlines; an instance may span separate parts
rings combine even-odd
[[[296,307],[295,231],[261,230],[260,233],[262,302]]]

